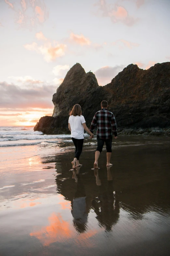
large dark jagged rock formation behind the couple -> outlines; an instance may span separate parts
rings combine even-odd
[[[46,134],[68,132],[68,113],[80,104],[90,127],[102,100],[116,117],[118,128],[170,127],[170,62],[148,70],[130,64],[111,83],[99,86],[92,72],[75,64],[53,95],[53,115],[41,117],[34,130]],[[142,133],[142,132],[141,132]]]

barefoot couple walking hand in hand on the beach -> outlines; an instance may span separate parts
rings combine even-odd
[[[98,169],[98,159],[100,153],[102,152],[104,144],[106,144],[107,150],[107,164],[106,166],[111,166],[110,158],[112,152],[112,134],[114,134],[114,139],[117,139],[116,131],[116,120],[112,112],[108,111],[108,103],[106,100],[101,102],[101,110],[97,111],[93,117],[92,124],[89,128],[86,126],[86,121],[81,113],[81,107],[79,104],[74,105],[70,112],[70,117],[68,119],[68,128],[71,131],[71,138],[76,147],[74,160],[71,162],[73,169],[81,166],[79,163],[79,157],[83,149],[84,142],[84,130],[90,134],[90,138],[94,137],[93,130],[97,125],[97,149],[95,152],[95,162],[94,169]]]

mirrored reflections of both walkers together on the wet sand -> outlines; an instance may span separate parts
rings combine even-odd
[[[91,196],[88,196],[88,187],[84,184],[84,179],[78,175],[80,167],[77,167],[77,171],[73,170],[72,178],[77,183],[77,190],[71,201],[71,213],[73,215],[74,227],[79,233],[87,230],[90,209],[94,210],[99,225],[103,226],[106,231],[110,231],[119,219],[119,200],[114,195],[110,167],[107,167],[107,181],[106,179],[99,178],[98,169],[94,170],[98,189],[93,188],[94,194]]]

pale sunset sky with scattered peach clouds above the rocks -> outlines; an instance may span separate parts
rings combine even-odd
[[[0,0],[0,126],[34,126],[79,62],[111,82],[170,61],[170,0]]]

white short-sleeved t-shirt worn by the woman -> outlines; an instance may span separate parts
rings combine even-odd
[[[84,139],[84,127],[82,124],[86,123],[83,115],[70,115],[68,122],[71,127],[71,137],[75,139]]]

